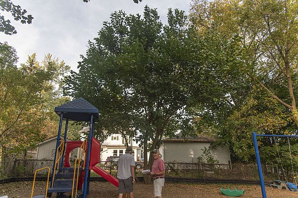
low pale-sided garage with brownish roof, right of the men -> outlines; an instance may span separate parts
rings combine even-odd
[[[183,162],[183,163],[196,163],[198,157],[204,155],[203,150],[205,147],[209,148],[210,144],[215,139],[197,136],[197,137],[181,137],[178,138],[165,138],[159,148],[162,158],[165,162]],[[211,155],[214,159],[219,161],[219,164],[230,164],[229,147],[217,147],[210,149]]]

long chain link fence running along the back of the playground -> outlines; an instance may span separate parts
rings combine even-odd
[[[43,167],[53,168],[53,160],[19,160],[0,162],[0,179],[9,177],[33,177],[37,169]],[[116,177],[117,162],[100,162],[96,166],[104,169]],[[143,163],[136,162],[136,176],[142,177]],[[262,167],[265,182],[273,180],[285,180],[294,182],[291,171],[281,170],[274,165]],[[165,163],[165,175],[171,178],[192,178],[192,179],[219,179],[219,180],[249,180],[259,181],[257,165],[249,164],[203,164],[203,163]],[[39,172],[39,176],[46,174],[46,170]],[[91,171],[91,177],[100,177]]]

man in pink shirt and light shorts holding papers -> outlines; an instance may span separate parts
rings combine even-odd
[[[161,190],[164,185],[164,162],[160,158],[157,148],[153,149],[151,152],[154,157],[152,171],[150,173],[153,178],[153,194],[155,198],[161,198]]]

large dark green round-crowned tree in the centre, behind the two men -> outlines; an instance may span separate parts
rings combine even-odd
[[[240,76],[233,69],[240,65],[236,40],[201,38],[187,20],[184,11],[169,9],[164,25],[147,6],[144,17],[112,13],[65,87],[99,109],[97,132],[139,132],[135,138],[144,145],[145,168],[147,148],[159,148],[163,136],[177,131],[194,134],[195,118],[209,108],[225,108],[224,87]]]

